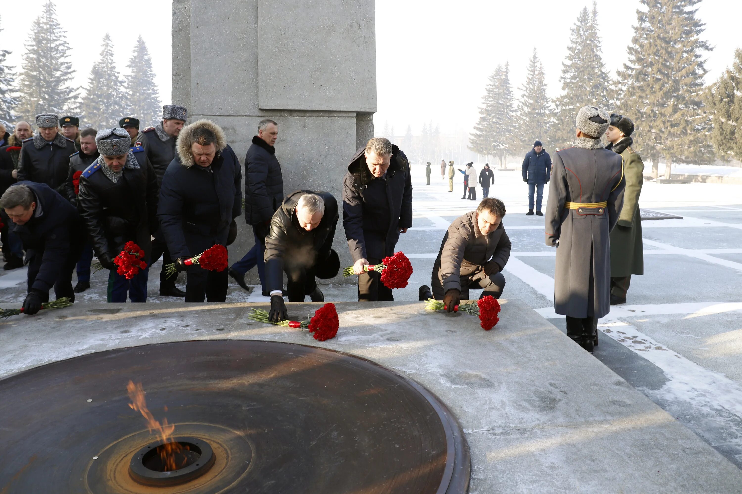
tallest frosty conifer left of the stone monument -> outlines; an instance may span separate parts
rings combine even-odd
[[[18,81],[20,104],[14,113],[33,121],[37,113],[62,114],[74,106],[77,89],[69,84],[75,71],[68,56],[65,30],[56,19],[54,4],[47,0],[31,26]]]

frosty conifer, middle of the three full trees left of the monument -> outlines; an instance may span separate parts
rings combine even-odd
[[[126,113],[127,99],[124,83],[114,64],[111,36],[105,33],[100,59],[93,64],[80,105],[85,124],[96,129],[117,127],[119,119]]]

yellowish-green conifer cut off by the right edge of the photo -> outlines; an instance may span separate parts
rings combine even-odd
[[[742,49],[735,50],[732,68],[727,68],[706,93],[712,110],[711,141],[716,156],[742,161]]]

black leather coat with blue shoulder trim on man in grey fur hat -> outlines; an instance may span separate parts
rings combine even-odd
[[[151,235],[157,230],[157,176],[144,150],[131,155],[139,168],[124,168],[115,184],[93,161],[80,177],[78,210],[98,256],[113,259],[134,241],[149,263]]]

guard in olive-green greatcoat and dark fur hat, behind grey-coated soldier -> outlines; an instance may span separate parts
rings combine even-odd
[[[644,163],[641,156],[631,149],[631,144],[634,144],[632,133],[634,122],[631,119],[616,113],[611,115],[611,125],[605,133],[610,144],[605,149],[621,155],[623,176],[626,178],[623,208],[616,227],[611,231],[611,305],[625,304],[631,275],[644,274],[642,218],[639,210]]]

